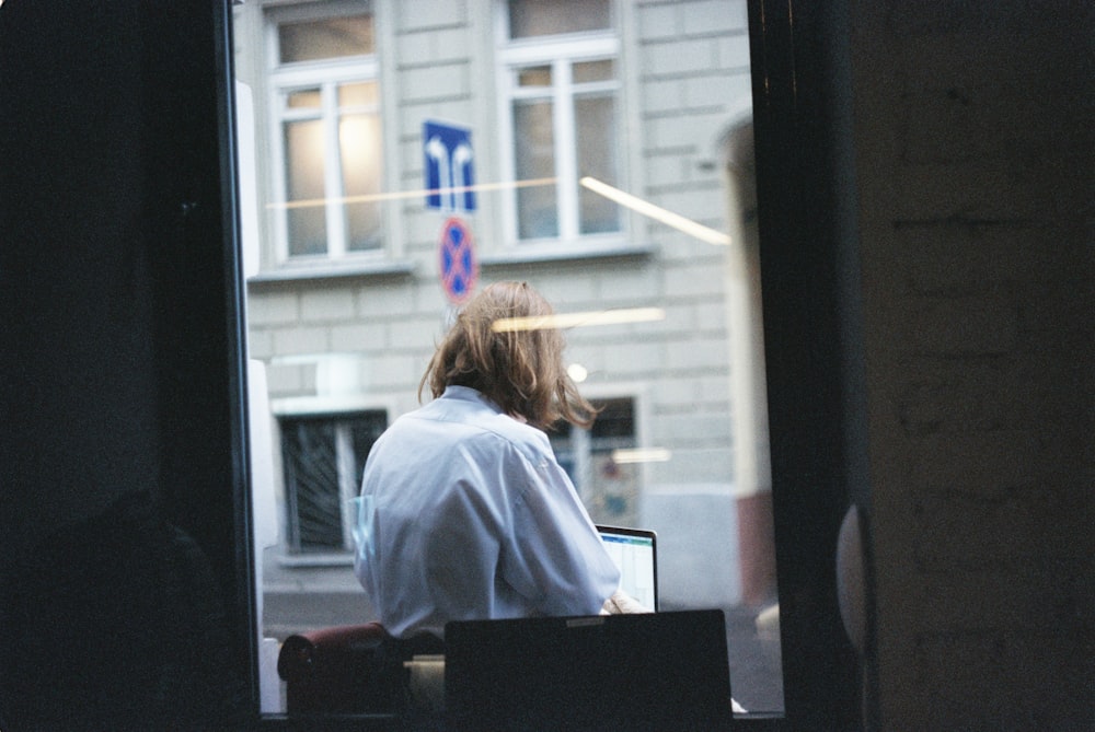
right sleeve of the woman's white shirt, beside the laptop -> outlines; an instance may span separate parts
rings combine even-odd
[[[512,535],[500,573],[545,615],[595,615],[620,584],[620,573],[553,456],[518,461]]]

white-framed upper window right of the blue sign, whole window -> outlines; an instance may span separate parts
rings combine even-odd
[[[619,185],[620,37],[611,0],[499,2],[502,130],[514,241],[615,234],[619,207],[580,185]]]

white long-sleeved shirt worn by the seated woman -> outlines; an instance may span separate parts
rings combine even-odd
[[[548,435],[450,386],[373,444],[355,572],[380,623],[592,615],[619,571]]]

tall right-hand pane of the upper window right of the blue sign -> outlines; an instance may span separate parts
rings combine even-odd
[[[615,185],[615,103],[611,96],[589,96],[574,103],[578,143],[578,177],[590,176]],[[620,230],[620,207],[580,187],[581,233]]]

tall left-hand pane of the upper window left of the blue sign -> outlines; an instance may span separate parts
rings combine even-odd
[[[289,254],[323,254],[327,251],[323,184],[323,123],[286,123],[286,196]]]

